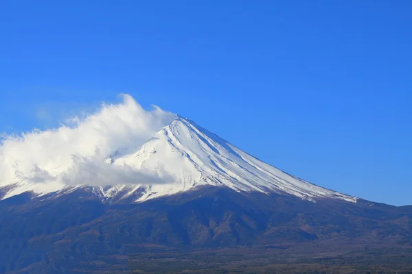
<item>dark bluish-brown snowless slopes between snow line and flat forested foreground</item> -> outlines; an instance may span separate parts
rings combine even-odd
[[[0,272],[128,269],[136,254],[222,247],[277,256],[406,250],[411,216],[411,207],[213,186],[144,203],[104,201],[88,188],[59,197],[24,193],[0,201]]]

